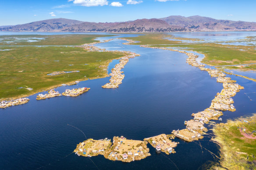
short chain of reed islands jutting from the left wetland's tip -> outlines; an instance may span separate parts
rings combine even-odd
[[[103,88],[117,88],[119,87],[119,84],[122,83],[122,80],[124,79],[124,73],[121,71],[121,69],[124,68],[124,66],[127,64],[130,58],[134,58],[136,56],[140,56],[140,54],[136,54],[134,52],[128,52],[129,55],[124,56],[120,59],[119,63],[115,65],[113,69],[111,69],[111,73],[109,74],[111,76],[110,83],[107,83],[103,85]]]

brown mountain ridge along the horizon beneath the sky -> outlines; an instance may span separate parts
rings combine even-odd
[[[173,32],[173,31],[256,31],[256,22],[216,20],[201,16],[169,16],[127,22],[96,23],[56,18],[28,24],[0,26],[0,31],[54,32]]]

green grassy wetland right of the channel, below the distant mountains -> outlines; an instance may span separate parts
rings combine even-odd
[[[167,38],[171,39],[168,40]],[[239,42],[248,42],[253,38],[248,37],[239,40]],[[205,55],[205,58],[202,60],[203,63],[210,66],[218,66],[218,69],[256,70],[256,65],[246,65],[242,69],[241,67],[230,66],[256,63],[255,45],[227,45],[221,42],[202,42],[197,38],[180,38],[164,34],[146,34],[138,37],[128,37],[128,39],[139,41],[134,43],[135,45],[170,47],[199,52]],[[232,43],[232,41],[228,43]]]

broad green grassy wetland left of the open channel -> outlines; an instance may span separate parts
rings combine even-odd
[[[0,36],[0,99],[24,97],[62,83],[107,76],[109,62],[123,54],[88,52],[75,46],[97,42],[94,39],[101,36],[108,35]],[[74,70],[79,72],[47,75]]]

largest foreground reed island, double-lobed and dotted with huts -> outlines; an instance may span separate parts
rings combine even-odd
[[[150,156],[146,141],[129,140],[121,136],[114,136],[113,144],[110,139],[93,140],[87,139],[77,145],[74,152],[78,156],[98,156],[103,155],[109,160],[119,160],[122,162],[132,162],[142,160]]]

